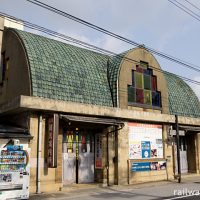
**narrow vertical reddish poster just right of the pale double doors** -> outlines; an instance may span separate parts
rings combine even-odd
[[[102,135],[95,135],[95,168],[102,169]]]

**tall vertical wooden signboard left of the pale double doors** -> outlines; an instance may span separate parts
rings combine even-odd
[[[48,118],[47,166],[57,167],[58,115]]]

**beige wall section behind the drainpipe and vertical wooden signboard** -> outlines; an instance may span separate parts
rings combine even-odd
[[[43,119],[42,124],[42,158],[41,158],[41,192],[59,191],[62,187],[62,134],[58,136],[58,167],[48,168],[46,164],[46,136],[45,129],[46,120]],[[30,177],[30,193],[36,192],[37,180],[37,148],[38,148],[38,116],[30,117],[30,133],[34,137],[30,142],[31,148],[31,177]]]

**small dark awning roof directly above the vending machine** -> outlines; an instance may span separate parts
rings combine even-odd
[[[33,137],[30,135],[27,129],[0,124],[0,138],[32,139]]]

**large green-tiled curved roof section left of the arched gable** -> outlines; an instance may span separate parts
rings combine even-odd
[[[107,56],[43,36],[14,31],[28,55],[33,96],[113,106],[107,79]]]

